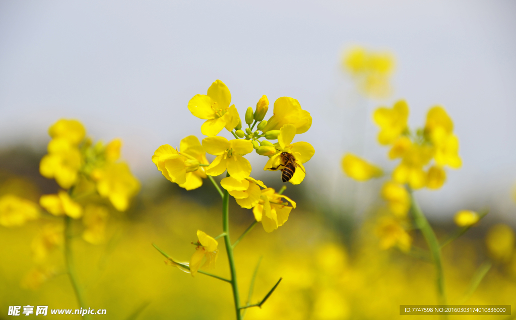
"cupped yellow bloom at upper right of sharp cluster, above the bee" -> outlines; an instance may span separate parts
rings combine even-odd
[[[307,132],[312,126],[312,116],[307,110],[301,109],[299,101],[294,98],[281,97],[274,102],[272,117],[262,132],[280,130],[285,124],[293,124],[297,134]]]

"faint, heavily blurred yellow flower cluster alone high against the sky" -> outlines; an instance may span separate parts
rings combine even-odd
[[[391,93],[389,78],[394,71],[394,57],[389,52],[371,52],[356,46],[348,50],[342,66],[358,88],[372,98],[385,98]]]

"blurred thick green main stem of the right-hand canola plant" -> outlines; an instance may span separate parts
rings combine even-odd
[[[441,258],[441,246],[437,240],[436,234],[433,232],[432,227],[428,223],[423,211],[419,204],[417,203],[412,190],[409,189],[410,193],[410,201],[411,201],[411,211],[414,216],[414,222],[416,226],[421,230],[423,236],[425,237],[428,248],[430,249],[430,255],[432,257],[433,264],[436,266],[436,284],[437,284],[437,292],[439,294],[439,303],[441,305],[446,305],[446,295],[444,292],[444,274],[443,274],[443,264]]]

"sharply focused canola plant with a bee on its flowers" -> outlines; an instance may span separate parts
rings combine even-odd
[[[262,181],[251,177],[252,167],[246,155],[254,150],[257,154],[266,156],[264,170],[281,171],[282,174],[288,170],[291,174],[284,181],[299,184],[307,174],[303,164],[310,161],[315,150],[308,142],[293,142],[296,135],[307,132],[312,125],[310,113],[303,110],[296,99],[278,98],[273,105],[273,115],[268,120],[264,120],[269,109],[266,95],[262,95],[254,110],[252,107],[246,109],[244,121],[240,119],[235,105],[230,104],[231,92],[228,87],[220,80],[215,81],[208,88],[207,94],[196,94],[187,106],[193,116],[206,120],[201,125],[201,133],[207,137],[199,143],[196,136],[188,136],[181,140],[179,151],[170,145],[163,145],[157,148],[152,156],[152,162],[165,178],[182,188],[195,189],[202,185],[202,179],[211,180],[222,197],[222,233],[213,238],[199,230],[198,242],[195,243],[196,251],[189,263],[178,262],[157,246],[154,247],[167,258],[165,262],[168,265],[189,272],[192,276],[202,273],[231,283],[236,318],[241,319],[243,309],[261,307],[276,289],[279,281],[260,303],[241,305],[233,248],[258,222],[262,223],[266,232],[277,230],[288,220],[292,209],[296,207],[293,200],[282,195],[285,188],[276,193],[274,189],[267,188]],[[245,130],[242,128],[243,123],[247,124]],[[253,131],[255,126],[256,130]],[[228,140],[219,136],[223,129],[231,132],[234,139]],[[206,153],[215,156],[215,159],[208,162]],[[220,188],[213,177],[224,172],[227,173],[220,181]],[[252,209],[255,218],[251,226],[234,243],[231,242],[229,230],[230,196],[241,207]],[[202,268],[203,260],[203,267],[214,267],[218,252],[216,239],[220,237],[224,238],[230,265],[230,279],[199,269]]]

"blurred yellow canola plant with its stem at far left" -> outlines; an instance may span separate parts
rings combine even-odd
[[[41,207],[12,194],[3,195],[0,197],[0,225],[14,227],[29,220],[52,220],[45,222],[33,239],[31,250],[38,266],[29,271],[22,286],[37,289],[55,275],[56,268],[51,265],[49,255],[62,248],[66,273],[79,306],[85,308],[72,259],[72,225],[74,221],[82,221],[82,238],[90,244],[103,243],[109,206],[126,211],[140,184],[128,165],[120,161],[120,139],[107,145],[101,141],[93,144],[86,137],[83,124],[68,119],[54,123],[49,135],[48,153],[42,157],[39,171],[43,177],[55,179],[62,189],[57,194],[42,195],[39,199]],[[59,217],[61,221],[57,220]]]

